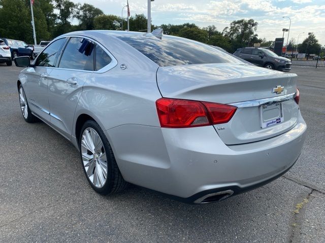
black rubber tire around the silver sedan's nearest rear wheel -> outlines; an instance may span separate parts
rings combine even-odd
[[[86,172],[85,166],[83,164],[82,151],[81,151],[81,140],[82,140],[83,132],[85,131],[85,129],[88,129],[88,128],[92,128],[100,136],[102,143],[103,143],[103,147],[106,152],[107,178],[106,178],[104,186],[101,188],[96,187],[95,185],[92,184],[92,182],[90,181],[90,179],[87,176],[87,172]],[[98,125],[98,123],[96,123],[94,120],[87,120],[81,129],[80,138],[79,138],[79,151],[80,151],[81,165],[83,167],[85,176],[86,176],[89,184],[91,185],[91,187],[96,192],[98,192],[99,194],[102,194],[102,195],[108,195],[108,194],[122,191],[123,189],[125,189],[128,186],[128,183],[126,181],[124,181],[123,176],[122,176],[120,170],[118,169],[118,166],[116,164],[116,160],[115,160],[115,157],[113,154],[112,147],[111,147],[107,137],[105,136],[103,130]]]

